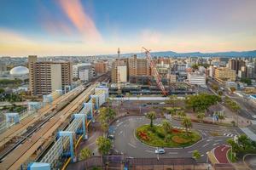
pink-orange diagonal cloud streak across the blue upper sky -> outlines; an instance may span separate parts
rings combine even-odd
[[[59,3],[64,13],[67,14],[68,19],[86,38],[93,42],[102,42],[102,36],[97,30],[94,21],[85,13],[79,0],[59,0]]]

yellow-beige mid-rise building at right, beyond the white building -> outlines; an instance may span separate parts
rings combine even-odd
[[[224,83],[226,81],[236,81],[236,71],[231,70],[227,67],[218,67],[214,69],[214,79],[217,82]]]

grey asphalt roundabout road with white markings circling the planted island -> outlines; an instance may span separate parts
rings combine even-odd
[[[162,119],[156,119],[154,124],[160,124]],[[131,157],[156,157],[155,147],[141,143],[135,137],[135,129],[143,124],[148,124],[149,120],[145,116],[125,116],[113,122],[114,150],[118,153]],[[172,120],[172,126],[181,127],[180,122]],[[241,130],[236,127],[220,127],[217,125],[193,123],[193,127],[201,133],[202,139],[194,145],[186,148],[165,148],[166,154],[160,157],[191,157],[193,150],[199,150],[201,158],[199,162],[207,161],[207,151],[218,145],[225,144],[231,136],[241,134]],[[210,132],[218,132],[221,136],[212,137]]]

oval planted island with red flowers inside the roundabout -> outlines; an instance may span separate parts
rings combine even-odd
[[[169,148],[186,147],[195,144],[201,139],[201,135],[196,131],[172,128],[166,133],[164,127],[150,127],[150,125],[137,127],[136,136],[144,144]]]

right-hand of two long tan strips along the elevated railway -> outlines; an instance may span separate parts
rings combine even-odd
[[[97,81],[102,82],[108,79],[106,76],[99,77]],[[44,142],[53,138],[58,127],[70,117],[74,111],[78,111],[82,103],[89,99],[90,94],[93,94],[96,87],[96,81],[91,82],[90,87],[81,92],[77,98],[73,99],[64,109],[58,111],[53,116],[49,116],[44,122],[40,123],[37,128],[34,128],[28,137],[24,138],[19,143],[15,144],[9,151],[6,152],[3,162],[0,163],[0,169],[18,169],[22,163],[26,162],[36,151],[42,150],[40,146]]]

